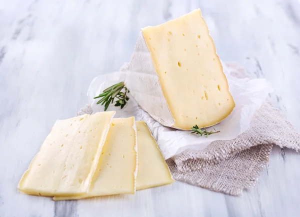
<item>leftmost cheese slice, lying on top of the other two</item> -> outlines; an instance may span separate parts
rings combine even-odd
[[[27,194],[80,195],[89,187],[115,111],[57,120],[23,174]]]

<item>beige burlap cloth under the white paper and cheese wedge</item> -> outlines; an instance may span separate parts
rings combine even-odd
[[[235,63],[236,77],[247,77]],[[77,115],[92,113],[90,106]],[[230,195],[240,195],[253,187],[259,173],[268,162],[272,145],[300,149],[300,134],[280,112],[266,102],[256,111],[250,128],[232,140],[218,140],[203,150],[186,150],[167,159],[172,176],[199,187]]]

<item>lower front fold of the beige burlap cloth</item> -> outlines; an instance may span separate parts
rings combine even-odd
[[[206,164],[201,170],[179,170],[172,159],[166,160],[172,176],[178,181],[230,195],[240,195],[243,188],[253,187],[268,162],[271,144],[250,147],[220,163]],[[201,164],[201,159],[190,164]],[[189,170],[189,169],[188,169]]]

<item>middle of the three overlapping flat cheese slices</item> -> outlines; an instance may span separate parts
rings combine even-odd
[[[55,196],[54,200],[134,193],[137,145],[134,117],[114,118],[102,148],[89,191],[80,196]]]

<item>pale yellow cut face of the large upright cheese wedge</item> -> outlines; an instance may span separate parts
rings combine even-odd
[[[142,32],[174,127],[210,126],[230,114],[234,101],[199,9]]]

